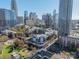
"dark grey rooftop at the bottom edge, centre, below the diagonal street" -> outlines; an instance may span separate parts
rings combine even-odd
[[[52,56],[52,53],[46,51],[45,49],[41,49],[30,59],[50,59],[51,56]]]

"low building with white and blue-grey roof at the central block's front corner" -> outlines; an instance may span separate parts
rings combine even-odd
[[[45,35],[34,35],[31,39],[26,41],[26,43],[36,46],[37,48],[42,48],[44,46],[44,43],[46,42],[46,36]]]

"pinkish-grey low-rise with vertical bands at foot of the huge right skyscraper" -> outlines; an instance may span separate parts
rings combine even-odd
[[[71,47],[73,45],[74,48],[79,48],[79,37],[76,36],[62,37],[59,41],[63,47],[68,46]]]

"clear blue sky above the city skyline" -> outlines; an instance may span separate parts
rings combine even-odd
[[[0,0],[0,8],[10,9],[11,0]],[[23,16],[24,10],[36,12],[39,17],[45,13],[52,13],[56,9],[58,13],[59,0],[16,0],[18,13]],[[73,0],[73,19],[79,19],[79,0]]]

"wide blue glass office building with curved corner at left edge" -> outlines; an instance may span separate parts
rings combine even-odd
[[[14,27],[16,25],[16,14],[12,10],[0,9],[0,30]]]

